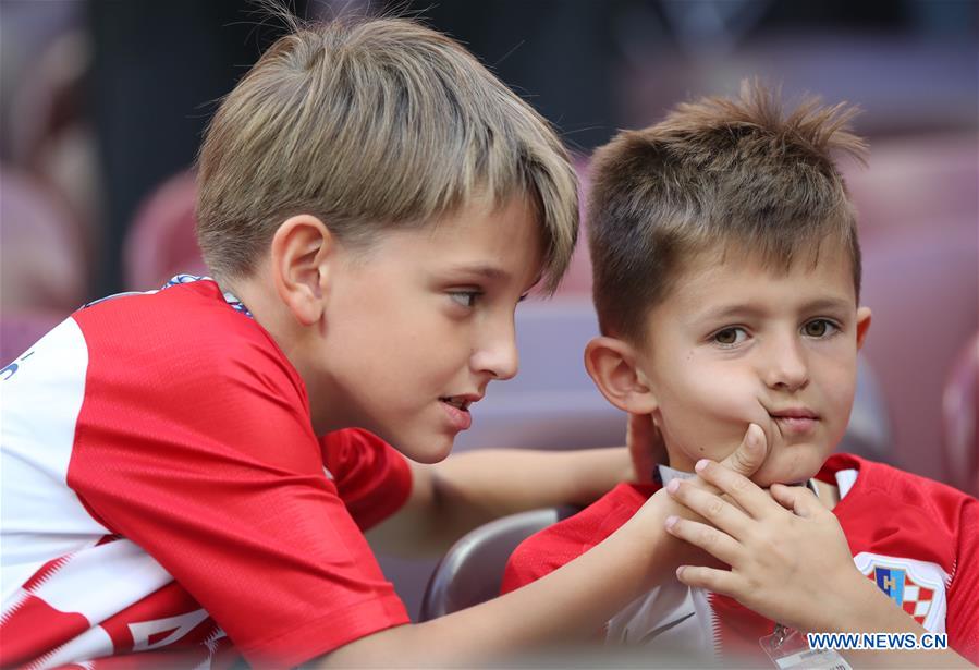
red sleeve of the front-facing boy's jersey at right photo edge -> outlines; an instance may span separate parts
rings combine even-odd
[[[979,665],[979,500],[975,498],[962,508],[945,623],[949,646]]]

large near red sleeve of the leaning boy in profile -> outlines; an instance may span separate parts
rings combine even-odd
[[[70,486],[253,665],[408,622],[325,473],[298,375],[257,324],[186,294],[76,316],[89,365]]]

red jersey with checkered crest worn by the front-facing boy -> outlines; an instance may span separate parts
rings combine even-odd
[[[833,513],[860,572],[926,630],[947,633],[950,647],[979,662],[979,501],[850,454],[830,456],[817,478],[840,489]],[[621,484],[525,540],[506,567],[503,592],[599,544],[658,488]],[[770,661],[759,639],[774,625],[732,598],[671,581],[626,606],[602,634],[609,643],[661,645],[673,654],[735,657],[764,667]]]

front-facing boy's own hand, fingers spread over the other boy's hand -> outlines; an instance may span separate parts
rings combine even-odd
[[[724,497],[671,482],[671,498],[708,523],[674,515],[666,531],[731,569],[681,565],[676,576],[684,584],[731,596],[801,631],[834,630],[856,594],[876,589],[854,565],[836,517],[809,489],[776,484],[769,494],[706,460],[696,471]]]

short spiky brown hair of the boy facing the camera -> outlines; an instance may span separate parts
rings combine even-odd
[[[867,145],[848,130],[857,112],[809,98],[785,115],[778,90],[746,81],[736,99],[680,105],[598,149],[588,244],[602,332],[641,341],[685,264],[732,245],[787,270],[840,241],[859,296],[856,211],[833,159],[864,160]]]

